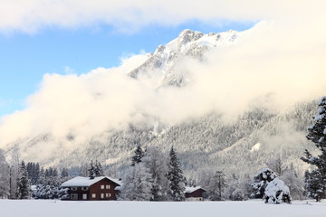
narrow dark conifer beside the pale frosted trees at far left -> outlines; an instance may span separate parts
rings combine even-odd
[[[19,168],[16,198],[29,199],[31,195],[30,191],[31,191],[30,181],[28,180],[28,175],[27,175],[24,161],[22,161],[22,164],[20,165]]]

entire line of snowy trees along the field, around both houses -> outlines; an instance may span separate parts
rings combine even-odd
[[[58,169],[52,166],[44,168],[39,163],[28,162],[25,164],[22,161],[19,164],[17,178],[14,180],[14,166],[6,163],[2,151],[0,151],[0,159],[0,195],[6,195],[10,199],[31,197],[60,199],[67,196],[66,190],[62,189],[60,185],[76,176],[76,174],[69,175],[72,170],[69,171],[67,168]],[[312,177],[311,173],[306,173],[307,182],[303,183],[293,166],[283,165],[280,158],[276,158],[267,165],[269,168],[263,169],[254,176],[225,175],[223,171],[208,169],[186,178],[178,161],[177,152],[173,147],[167,155],[158,146],[143,150],[138,145],[131,157],[129,167],[122,175],[123,185],[120,188],[119,199],[127,201],[184,201],[186,186],[198,185],[206,190],[204,198],[210,201],[267,198],[266,189],[273,189],[276,185],[282,185],[283,195],[288,195],[288,198],[284,199],[285,202],[291,201],[291,198],[303,199],[304,195],[315,198],[313,193],[318,189],[312,189],[312,184],[308,184],[309,178]],[[95,177],[104,175],[104,173],[101,163],[91,161],[89,165],[81,165],[77,175]],[[269,184],[274,185],[268,187]],[[286,188],[288,188],[288,192]],[[268,201],[268,199],[266,200]],[[271,200],[279,202],[281,199],[273,198]]]

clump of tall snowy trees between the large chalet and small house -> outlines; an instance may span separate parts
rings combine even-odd
[[[165,156],[157,146],[144,151],[138,145],[122,176],[119,200],[185,201],[186,182],[173,147]]]

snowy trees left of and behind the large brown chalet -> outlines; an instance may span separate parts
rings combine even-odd
[[[18,146],[14,146],[11,162],[7,163],[0,149],[0,199],[61,199],[67,190],[61,184],[75,175],[69,175],[68,168],[50,166],[44,168],[39,163],[20,161]],[[101,176],[103,169],[98,161],[82,165],[82,176]]]

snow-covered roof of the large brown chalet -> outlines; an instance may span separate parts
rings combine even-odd
[[[100,176],[100,177],[94,177],[91,179],[90,177],[82,177],[77,176],[72,178],[71,180],[68,180],[67,182],[62,183],[62,187],[89,187],[91,184],[95,184],[102,179],[107,178],[113,183],[121,185],[121,182],[117,179],[110,178],[109,176]]]

